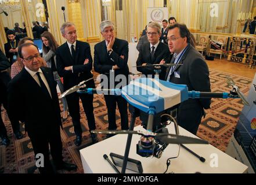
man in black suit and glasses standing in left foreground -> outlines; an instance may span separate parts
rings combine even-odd
[[[24,68],[8,85],[10,115],[24,121],[35,158],[40,160],[36,165],[41,173],[54,172],[49,159],[49,145],[56,169],[76,169],[76,165],[68,164],[62,158],[62,120],[51,69],[41,67],[43,59],[34,44],[21,45],[19,56]]]

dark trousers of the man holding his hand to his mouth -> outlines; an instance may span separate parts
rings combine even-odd
[[[127,101],[121,96],[104,95],[107,105],[107,116],[109,118],[109,130],[117,129],[116,108],[118,106],[121,116],[121,129],[129,129]]]

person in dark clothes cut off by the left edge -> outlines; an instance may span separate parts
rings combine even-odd
[[[0,50],[0,107],[3,104],[3,107],[8,112],[8,117],[10,123],[12,124],[13,133],[15,134],[17,139],[23,138],[23,135],[20,132],[20,123],[18,120],[13,120],[9,114],[8,105],[7,105],[7,86],[10,82],[10,75],[8,73],[8,69],[10,68],[10,62],[8,58]],[[0,111],[1,112],[1,111]],[[8,146],[10,140],[7,136],[7,131],[5,128],[5,124],[3,124],[3,120],[0,113],[0,138],[2,139],[2,143],[5,146]]]

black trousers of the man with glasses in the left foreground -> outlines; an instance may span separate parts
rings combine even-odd
[[[51,125],[55,125],[52,127]],[[54,164],[61,164],[62,157],[62,139],[60,137],[60,127],[56,123],[45,123],[46,131],[38,132],[28,129],[35,157],[37,154],[44,155],[44,168],[38,168],[40,173],[53,173],[52,165],[49,158],[49,144]],[[34,128],[35,129],[35,128]],[[32,133],[31,133],[32,132]],[[36,158],[38,160],[39,158]],[[40,158],[41,159],[41,158]]]

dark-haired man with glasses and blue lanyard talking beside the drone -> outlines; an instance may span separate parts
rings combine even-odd
[[[176,84],[186,84],[189,91],[210,92],[208,66],[203,56],[190,45],[190,32],[184,24],[174,24],[168,28],[168,46],[174,53],[171,63],[183,64],[167,70],[166,79]],[[180,103],[178,124],[196,134],[204,109],[210,108],[211,99],[189,99]]]

